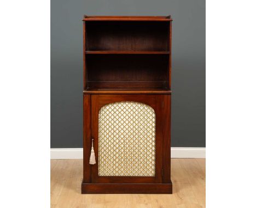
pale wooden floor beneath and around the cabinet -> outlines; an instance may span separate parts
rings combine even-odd
[[[51,207],[205,207],[205,159],[171,159],[173,194],[81,194],[83,160],[51,160]]]

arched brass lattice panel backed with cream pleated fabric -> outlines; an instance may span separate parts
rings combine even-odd
[[[139,102],[114,102],[98,114],[98,175],[155,176],[155,112]]]

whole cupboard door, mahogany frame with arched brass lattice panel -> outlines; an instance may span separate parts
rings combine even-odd
[[[170,117],[165,96],[91,96],[93,183],[163,182],[163,131],[168,125],[165,118]]]

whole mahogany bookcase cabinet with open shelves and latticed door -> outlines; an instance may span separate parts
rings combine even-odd
[[[171,24],[84,16],[82,193],[172,193]]]

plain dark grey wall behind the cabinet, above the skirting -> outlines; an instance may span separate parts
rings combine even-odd
[[[204,0],[51,0],[51,148],[83,144],[84,14],[172,15],[172,146],[204,147]]]

